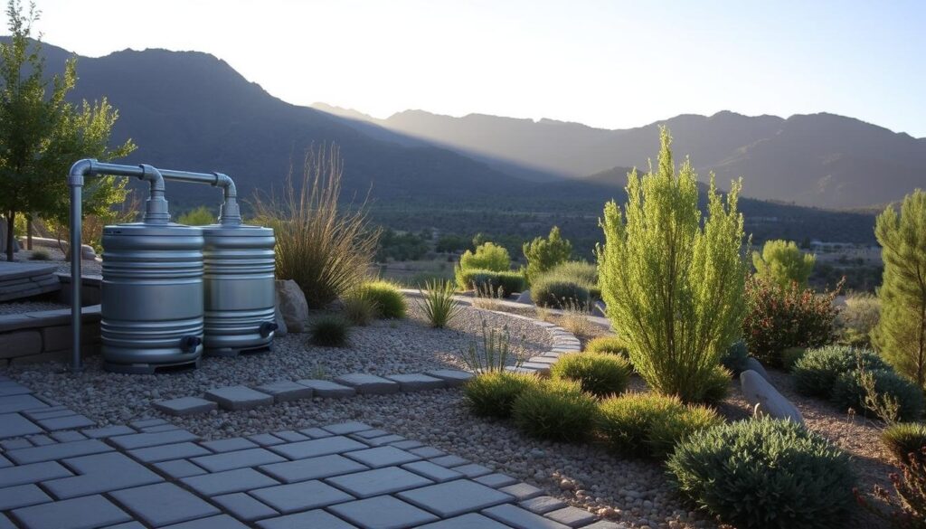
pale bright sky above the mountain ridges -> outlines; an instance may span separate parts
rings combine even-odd
[[[827,111],[926,136],[926,2],[37,0],[44,41],[226,60],[296,105],[644,125]],[[80,65],[78,65],[80,73]]]

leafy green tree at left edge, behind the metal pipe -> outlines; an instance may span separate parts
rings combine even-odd
[[[44,76],[41,40],[31,38],[39,12],[24,13],[19,0],[6,6],[11,37],[0,43],[0,211],[7,220],[6,259],[13,260],[13,224],[17,214],[38,213],[57,222],[67,218],[69,165],[81,157],[124,157],[131,140],[108,148],[118,113],[104,99],[80,108],[65,100],[77,81],[76,61],[64,73]],[[86,187],[87,214],[125,199],[124,181],[97,179]]]

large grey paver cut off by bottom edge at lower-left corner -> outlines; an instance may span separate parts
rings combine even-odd
[[[130,522],[131,516],[102,496],[66,499],[13,511],[28,529],[92,529]]]

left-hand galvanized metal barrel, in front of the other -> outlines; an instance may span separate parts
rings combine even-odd
[[[203,232],[174,223],[103,229],[104,366],[196,366],[203,351]]]

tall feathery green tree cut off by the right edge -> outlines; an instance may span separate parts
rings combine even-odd
[[[926,193],[887,208],[874,228],[882,246],[881,318],[871,342],[897,372],[926,387]]]

